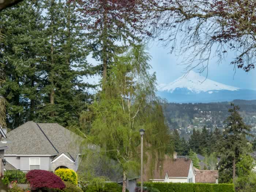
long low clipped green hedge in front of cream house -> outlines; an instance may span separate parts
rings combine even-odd
[[[137,184],[140,186],[140,184]],[[144,187],[157,188],[160,192],[234,192],[233,184],[163,183],[144,182]]]

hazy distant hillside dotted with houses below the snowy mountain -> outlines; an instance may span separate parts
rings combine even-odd
[[[246,124],[256,133],[256,100],[234,100],[240,106],[240,114]],[[229,116],[230,102],[217,103],[166,103],[165,116],[170,129],[178,129],[181,136],[188,139],[193,128],[209,130],[223,129],[223,121]]]

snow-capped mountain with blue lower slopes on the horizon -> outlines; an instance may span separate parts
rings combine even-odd
[[[169,84],[160,84],[158,95],[169,102],[222,102],[255,99],[256,91],[243,90],[189,72]]]

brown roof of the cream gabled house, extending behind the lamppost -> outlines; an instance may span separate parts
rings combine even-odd
[[[165,156],[163,161],[158,161],[155,163],[153,170],[150,170],[150,166],[144,166],[144,181],[149,179],[165,179],[166,173],[168,177],[188,177],[189,167],[191,165],[191,160],[187,158],[177,158]]]

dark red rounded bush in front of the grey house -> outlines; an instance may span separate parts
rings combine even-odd
[[[45,170],[31,170],[26,174],[27,181],[33,190],[45,188],[64,189],[65,184],[59,176]]]

